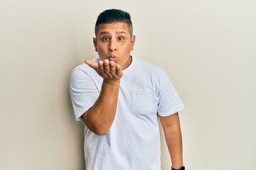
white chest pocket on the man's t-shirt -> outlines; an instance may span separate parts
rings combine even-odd
[[[137,114],[156,113],[156,96],[153,91],[131,91],[131,107]]]

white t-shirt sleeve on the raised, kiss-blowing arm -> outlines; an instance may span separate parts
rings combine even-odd
[[[75,113],[75,119],[81,116],[95,103],[99,91],[92,78],[82,69],[74,69],[70,75],[70,96]]]

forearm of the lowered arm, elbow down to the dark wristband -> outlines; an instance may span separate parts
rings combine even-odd
[[[174,125],[170,128],[166,128],[164,133],[171,157],[171,164],[174,169],[178,169],[179,167],[183,166],[182,137],[180,125]]]

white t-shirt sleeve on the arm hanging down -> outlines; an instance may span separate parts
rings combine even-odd
[[[178,93],[169,79],[168,75],[162,71],[159,80],[159,105],[158,114],[161,116],[168,116],[179,111],[185,107],[178,96]]]

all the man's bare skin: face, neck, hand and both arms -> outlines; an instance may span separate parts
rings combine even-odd
[[[127,26],[127,23],[100,24],[97,38],[93,38],[95,51],[100,56],[100,61],[97,63],[85,61],[103,78],[99,98],[92,108],[82,115],[87,128],[97,135],[106,135],[114,121],[122,70],[129,67],[132,62],[130,52],[134,49],[135,36],[131,33],[131,28]],[[164,129],[172,166],[178,169],[183,166],[178,113],[159,118]]]

